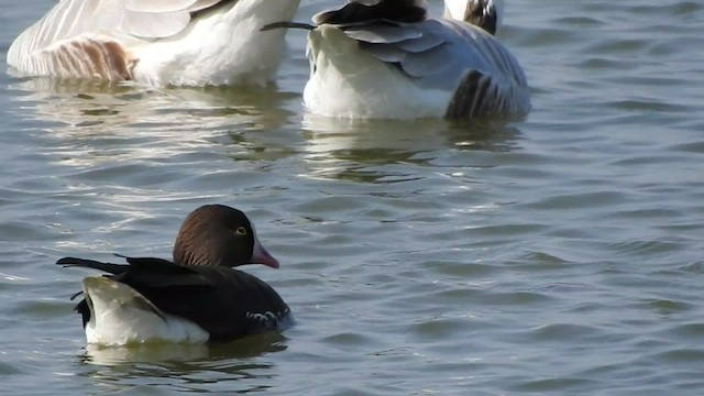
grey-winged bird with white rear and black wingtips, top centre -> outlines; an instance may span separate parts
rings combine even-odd
[[[359,0],[318,13],[309,29],[314,113],[337,118],[471,119],[525,113],[524,72],[496,38],[503,0],[446,0],[427,19],[422,0]]]

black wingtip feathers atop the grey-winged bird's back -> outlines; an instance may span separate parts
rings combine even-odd
[[[419,0],[378,0],[376,3],[353,1],[343,8],[316,14],[314,23],[320,24],[355,24],[377,20],[394,22],[421,22],[428,11]]]

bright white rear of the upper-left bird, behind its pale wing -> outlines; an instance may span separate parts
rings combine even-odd
[[[150,85],[264,85],[278,68],[284,31],[260,29],[293,18],[297,6],[298,1],[240,0],[227,14],[204,15],[193,21],[184,34],[138,50],[135,79]],[[238,23],[232,24],[232,20]],[[204,81],[204,69],[209,81]]]

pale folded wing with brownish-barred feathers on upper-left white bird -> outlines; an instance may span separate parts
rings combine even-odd
[[[90,62],[94,74],[102,74],[96,69],[100,64],[118,67],[128,62],[125,42],[178,34],[193,12],[223,1],[62,0],[12,43],[8,64],[26,74],[89,77],[79,68]]]

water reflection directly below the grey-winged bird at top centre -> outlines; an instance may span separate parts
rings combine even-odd
[[[364,183],[396,183],[417,176],[388,165],[429,165],[448,148],[507,152],[520,132],[508,120],[472,123],[443,120],[339,120],[305,114],[308,174]]]

